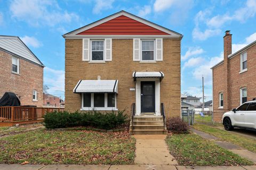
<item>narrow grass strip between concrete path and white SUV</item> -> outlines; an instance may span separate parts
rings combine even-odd
[[[222,141],[231,142],[247,150],[256,152],[256,140],[252,138],[243,137],[239,134],[218,129],[217,126],[214,125],[194,124],[193,128],[214,135]]]

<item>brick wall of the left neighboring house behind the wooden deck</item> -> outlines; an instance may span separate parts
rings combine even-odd
[[[33,90],[38,101],[32,101]],[[5,92],[20,96],[21,105],[43,105],[43,67],[20,58],[20,74],[12,73],[12,55],[0,50],[0,97]]]

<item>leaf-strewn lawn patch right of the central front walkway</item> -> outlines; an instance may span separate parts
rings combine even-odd
[[[218,166],[218,165],[252,165],[253,163],[223,149],[214,142],[199,135],[173,134],[166,138],[170,153],[179,165],[185,166]]]

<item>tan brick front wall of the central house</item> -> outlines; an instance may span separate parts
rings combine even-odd
[[[81,95],[73,89],[78,80],[119,80],[117,108],[126,108],[130,114],[135,103],[134,71],[162,71],[161,103],[167,116],[180,116],[180,39],[163,39],[163,61],[139,63],[133,61],[133,40],[113,39],[112,61],[95,64],[82,61],[82,39],[66,39],[65,109],[76,111],[81,108]]]

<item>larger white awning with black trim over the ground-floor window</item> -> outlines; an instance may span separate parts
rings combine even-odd
[[[74,93],[111,93],[118,92],[118,80],[79,80]]]

